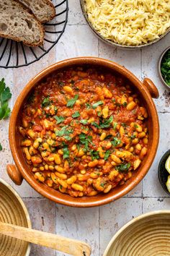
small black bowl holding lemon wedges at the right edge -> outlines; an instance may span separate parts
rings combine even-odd
[[[159,182],[161,183],[161,186],[163,187],[163,189],[165,190],[165,192],[168,195],[170,195],[170,193],[166,187],[166,182],[167,182],[168,176],[170,174],[168,171],[166,171],[165,163],[166,163],[166,160],[169,157],[169,155],[170,155],[170,150],[168,150],[168,151],[166,151],[166,153],[164,153],[164,155],[161,158],[161,161],[159,162],[159,165],[158,165],[158,179],[159,179]]]

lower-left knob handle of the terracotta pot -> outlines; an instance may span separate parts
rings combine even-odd
[[[12,182],[14,184],[20,186],[22,184],[23,178],[19,170],[17,169],[17,166],[14,164],[8,164],[6,166],[7,174],[9,175],[10,179],[12,179]]]

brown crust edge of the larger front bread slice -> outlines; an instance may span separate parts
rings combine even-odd
[[[35,17],[34,14],[32,14],[32,12],[30,12],[30,9],[28,9],[27,7],[24,7],[18,0],[12,0],[12,1],[15,1],[17,4],[19,4],[19,6],[25,10],[25,12],[28,12],[31,16],[32,16],[32,19],[36,20],[37,22],[37,25],[40,29],[40,35],[41,35],[41,38],[38,42],[36,43],[29,43],[27,42],[27,40],[20,40],[17,36],[13,36],[13,35],[4,35],[3,33],[0,33],[0,36],[2,38],[8,38],[8,39],[12,39],[12,40],[15,40],[17,42],[23,42],[26,46],[42,46],[43,45],[43,41],[44,41],[44,35],[45,35],[45,29],[44,27],[42,26],[41,22],[39,20],[37,20],[37,17]]]

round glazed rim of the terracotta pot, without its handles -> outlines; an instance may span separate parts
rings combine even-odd
[[[111,69],[114,72],[117,72],[121,74],[123,77],[126,77],[130,82],[134,85],[135,88],[137,88],[138,93],[145,98],[147,101],[147,109],[148,111],[151,111],[151,118],[152,118],[152,124],[153,124],[153,142],[151,144],[151,149],[149,153],[149,158],[147,158],[147,161],[143,168],[138,171],[138,175],[136,176],[135,180],[131,180],[131,182],[128,182],[125,187],[121,189],[120,192],[117,192],[116,195],[112,195],[112,192],[109,192],[108,194],[104,195],[97,195],[94,197],[71,197],[69,195],[62,194],[61,192],[57,192],[53,189],[53,192],[51,189],[49,189],[47,186],[38,184],[36,180],[29,174],[29,171],[24,170],[22,166],[22,162],[19,159],[19,153],[17,150],[16,145],[16,122],[17,122],[17,116],[19,113],[19,109],[22,107],[22,103],[24,99],[27,97],[28,93],[30,93],[30,90],[37,84],[37,82],[40,82],[43,77],[46,77],[50,73],[54,72],[58,69],[63,69],[66,67],[72,67],[74,65],[82,65],[82,64],[89,64],[89,65],[97,65],[102,66],[106,69]],[[146,175],[148,172],[148,169],[151,167],[151,164],[153,162],[153,159],[156,155],[156,150],[158,148],[158,140],[159,140],[159,124],[158,124],[158,114],[156,111],[156,106],[153,103],[153,100],[151,98],[151,94],[149,93],[149,88],[147,89],[145,85],[143,85],[140,80],[138,80],[137,77],[128,69],[125,67],[122,67],[120,64],[117,64],[113,61],[108,61],[106,59],[101,59],[97,57],[91,57],[91,56],[84,56],[84,57],[77,57],[73,59],[66,59],[63,61],[60,61],[58,63],[55,63],[51,65],[50,67],[42,70],[39,74],[37,74],[30,82],[27,83],[27,85],[24,87],[22,92],[20,93],[19,97],[17,98],[17,101],[14,105],[12,116],[9,121],[9,145],[12,150],[12,156],[14,158],[14,162],[19,170],[19,172],[22,174],[22,177],[30,184],[32,188],[34,188],[38,193],[40,193],[42,196],[47,197],[50,200],[53,200],[54,202],[73,206],[73,207],[94,207],[99,205],[104,205],[109,202],[112,202],[114,200],[117,200],[118,198],[126,195],[130,190],[132,190]]]

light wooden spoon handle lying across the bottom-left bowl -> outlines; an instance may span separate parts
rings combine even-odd
[[[45,247],[66,252],[75,256],[91,255],[91,247],[84,242],[68,239],[63,236],[50,234],[35,229],[27,229],[22,226],[15,226],[0,221],[0,234],[12,236],[33,244],[40,244]]]

